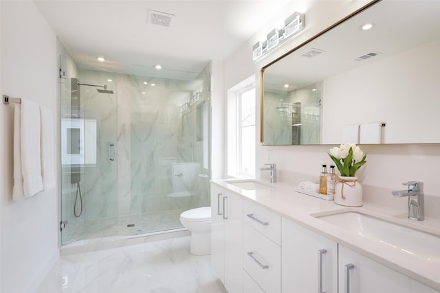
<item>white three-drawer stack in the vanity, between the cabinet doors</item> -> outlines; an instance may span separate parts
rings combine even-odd
[[[243,202],[243,292],[281,292],[281,216]]]

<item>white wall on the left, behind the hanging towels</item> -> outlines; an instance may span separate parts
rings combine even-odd
[[[56,35],[32,1],[0,5],[1,94],[32,99],[49,107],[56,119]],[[12,201],[14,105],[0,104],[0,113],[0,291],[34,292],[58,258],[57,192]]]

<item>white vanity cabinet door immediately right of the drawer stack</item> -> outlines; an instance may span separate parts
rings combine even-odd
[[[282,220],[282,292],[338,292],[338,244]]]

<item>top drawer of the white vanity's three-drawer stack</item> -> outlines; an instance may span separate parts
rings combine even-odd
[[[245,224],[281,245],[281,215],[248,200],[245,200],[243,204]]]

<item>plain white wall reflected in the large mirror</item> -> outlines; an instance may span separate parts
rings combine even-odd
[[[437,40],[326,78],[322,142],[340,142],[342,126],[379,121],[383,143],[439,142],[440,132],[424,129],[440,124],[439,51]]]

